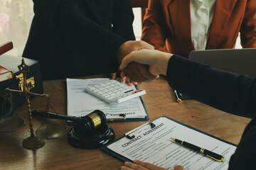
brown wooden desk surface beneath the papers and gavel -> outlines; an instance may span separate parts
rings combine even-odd
[[[43,88],[50,95],[51,103],[58,113],[66,114],[65,80],[45,81]],[[142,96],[149,121],[166,115],[238,144],[245,125],[250,121],[218,111],[197,101],[189,100],[176,103],[171,88],[161,77],[154,82],[139,84],[145,89]],[[31,101],[32,110],[43,110],[46,98],[37,97]],[[96,108],[95,108],[96,109]],[[16,113],[26,120],[26,125],[14,132],[0,132],[0,169],[120,169],[122,162],[100,151],[100,149],[77,149],[68,144],[67,135],[55,140],[46,140],[46,144],[34,150],[24,149],[22,140],[30,135],[26,106],[16,109]],[[41,119],[33,118],[33,128],[41,125]],[[145,121],[127,123],[109,123],[114,129],[116,139],[124,132],[132,130]]]

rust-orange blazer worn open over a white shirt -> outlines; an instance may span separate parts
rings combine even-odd
[[[238,33],[242,47],[256,47],[256,0],[216,0],[207,49],[234,48]],[[149,0],[142,40],[156,50],[188,57],[191,40],[189,0]]]

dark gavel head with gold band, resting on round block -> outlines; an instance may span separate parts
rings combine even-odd
[[[100,110],[95,110],[88,115],[81,117],[74,126],[76,133],[82,135],[94,132],[106,125],[106,115]]]

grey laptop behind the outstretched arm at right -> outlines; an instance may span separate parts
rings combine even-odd
[[[188,59],[236,74],[256,77],[256,48],[195,50]]]

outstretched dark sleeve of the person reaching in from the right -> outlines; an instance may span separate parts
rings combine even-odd
[[[256,79],[177,55],[169,60],[166,77],[172,88],[214,108],[249,118],[256,113]]]

